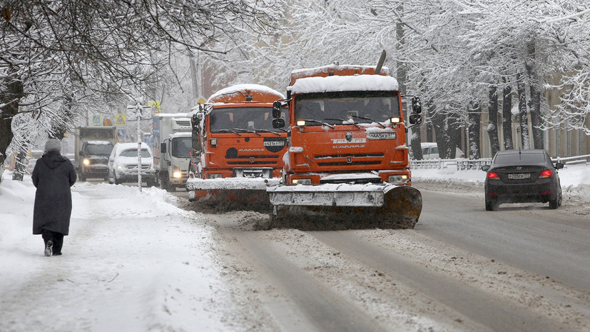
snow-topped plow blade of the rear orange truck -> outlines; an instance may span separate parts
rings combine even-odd
[[[188,200],[215,211],[270,211],[266,187],[278,183],[275,178],[189,178]]]

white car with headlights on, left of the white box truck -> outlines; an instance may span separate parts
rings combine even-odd
[[[141,144],[141,168],[138,168],[137,162],[137,143],[115,144],[108,157],[108,183],[137,182],[138,171],[141,171],[141,181],[154,186],[156,169],[153,168],[153,153],[145,143]]]

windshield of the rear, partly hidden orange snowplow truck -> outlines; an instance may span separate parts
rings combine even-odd
[[[232,129],[245,131],[281,131],[273,128],[273,107],[228,107],[213,109],[210,114],[212,133],[228,132]],[[283,114],[287,123],[287,114]]]

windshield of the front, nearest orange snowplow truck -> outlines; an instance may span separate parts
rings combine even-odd
[[[400,117],[399,94],[392,91],[342,91],[295,98],[295,121],[314,120],[307,126],[382,123],[392,117]]]

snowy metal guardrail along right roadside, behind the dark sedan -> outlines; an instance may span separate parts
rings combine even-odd
[[[566,167],[568,165],[585,164],[590,166],[590,154],[583,156],[571,156],[571,157],[557,157],[551,158],[554,163],[563,163]],[[415,169],[433,168],[433,169],[444,169],[449,166],[457,166],[457,171],[467,171],[469,169],[479,170],[484,165],[492,164],[491,158],[482,159],[424,159],[424,160],[410,160],[410,167]]]

